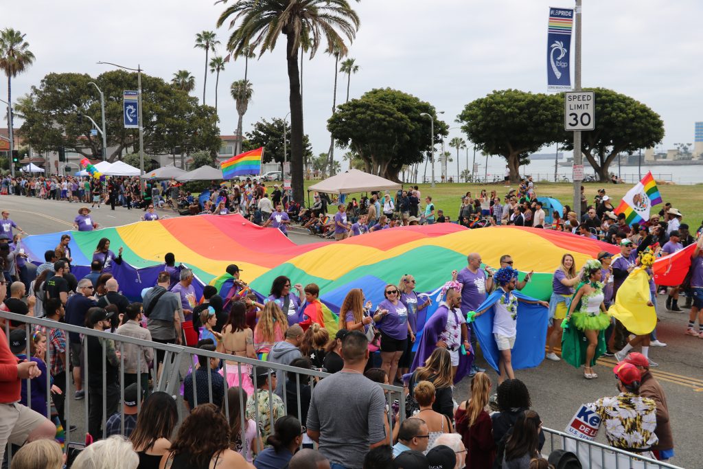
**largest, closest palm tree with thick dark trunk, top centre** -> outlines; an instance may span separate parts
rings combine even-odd
[[[291,185],[295,200],[303,201],[303,109],[297,60],[301,38],[307,34],[312,37],[311,57],[322,41],[326,41],[328,49],[336,45],[346,52],[342,36],[354,40],[359,30],[359,15],[347,0],[235,0],[220,15],[217,27],[226,21],[233,29],[227,48],[236,55],[249,45],[259,48],[260,54],[273,51],[280,35],[285,35],[290,88]]]

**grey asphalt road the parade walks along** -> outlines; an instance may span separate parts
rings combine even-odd
[[[11,218],[25,231],[39,234],[70,229],[79,205],[4,195],[0,198],[0,207],[9,210]],[[119,226],[138,221],[142,213],[141,210],[128,211],[121,207],[113,212],[110,207],[103,205],[99,210],[93,210],[92,215],[101,226]],[[298,244],[320,241],[320,238],[314,236],[297,234],[291,234],[290,238]],[[703,421],[703,340],[683,334],[688,321],[688,309],[684,313],[664,311],[664,300],[665,297],[659,297],[657,310],[661,321],[657,331],[659,340],[666,342],[668,347],[651,347],[650,357],[659,363],[659,367],[652,368],[652,371],[664,387],[669,404],[676,451],[676,457],[671,463],[684,468],[700,468],[703,467],[699,456],[699,428]],[[480,356],[478,364],[486,367]],[[544,425],[563,431],[580,404],[617,394],[612,374],[614,364],[612,358],[601,359],[598,366],[594,367],[594,371],[600,375],[595,380],[585,380],[582,371],[563,361],[548,360],[543,361],[538,368],[517,371],[516,377],[526,383],[532,407],[540,414]],[[494,383],[497,383],[496,373],[491,370],[489,374]],[[468,388],[468,379],[459,383],[454,391],[455,399],[462,401],[470,397]],[[71,392],[71,418],[77,419],[75,421],[79,422],[79,430],[82,430],[84,402],[73,400],[72,394]],[[598,441],[605,442],[602,432]]]

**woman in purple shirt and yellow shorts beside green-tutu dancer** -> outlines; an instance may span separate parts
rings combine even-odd
[[[583,271],[576,274],[574,256],[565,254],[562,263],[554,272],[552,279],[552,297],[549,300],[549,319],[554,319],[552,333],[549,335],[546,359],[560,361],[554,353],[554,347],[562,343],[562,319],[567,317],[569,301],[574,295],[574,285],[578,285]]]

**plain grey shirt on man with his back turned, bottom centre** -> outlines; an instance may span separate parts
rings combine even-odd
[[[386,437],[385,404],[377,383],[359,373],[340,371],[316,385],[306,426],[320,432],[318,451],[330,463],[362,468],[369,445]],[[340,410],[344,418],[340,418]]]

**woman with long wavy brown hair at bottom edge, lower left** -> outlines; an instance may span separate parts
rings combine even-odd
[[[230,428],[214,404],[200,404],[183,420],[170,451],[161,458],[159,469],[246,468],[241,454],[229,449]]]

